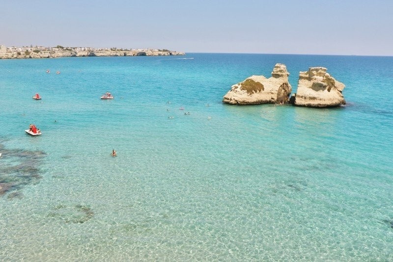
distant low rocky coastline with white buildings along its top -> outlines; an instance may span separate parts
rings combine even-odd
[[[5,47],[0,45],[0,59],[12,58],[56,58],[83,56],[158,56],[184,55],[184,52],[160,49],[122,49],[91,47]]]

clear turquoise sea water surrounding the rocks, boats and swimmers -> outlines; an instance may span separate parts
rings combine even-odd
[[[347,105],[222,104],[276,63]],[[393,260],[393,57],[0,60],[0,93],[0,261]]]

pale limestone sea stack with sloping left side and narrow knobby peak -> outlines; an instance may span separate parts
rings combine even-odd
[[[292,91],[288,76],[286,66],[276,64],[269,79],[264,76],[251,76],[232,85],[223,102],[233,105],[287,103]]]

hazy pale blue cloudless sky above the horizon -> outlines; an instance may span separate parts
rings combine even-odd
[[[393,55],[393,0],[0,0],[0,45]]]

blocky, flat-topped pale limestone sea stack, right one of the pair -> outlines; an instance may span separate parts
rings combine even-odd
[[[342,90],[345,85],[328,73],[324,67],[310,67],[307,72],[300,72],[298,89],[290,103],[310,107],[329,107],[345,105]]]

